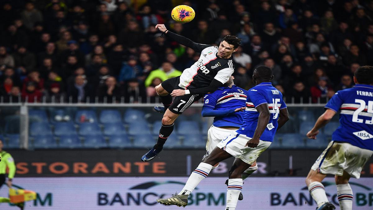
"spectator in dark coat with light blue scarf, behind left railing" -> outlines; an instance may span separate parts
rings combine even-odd
[[[68,87],[68,97],[72,98],[73,103],[86,102],[87,97],[91,96],[90,91],[88,81],[82,75],[77,75],[74,83]]]

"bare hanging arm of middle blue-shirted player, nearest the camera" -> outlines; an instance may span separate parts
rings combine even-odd
[[[260,136],[263,134],[269,122],[271,114],[269,113],[268,104],[261,104],[256,107],[259,112],[258,125],[252,139],[250,139],[245,146],[256,148],[259,144]]]

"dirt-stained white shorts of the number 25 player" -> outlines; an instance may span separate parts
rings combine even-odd
[[[338,176],[342,176],[345,171],[358,179],[363,166],[372,154],[373,151],[368,149],[361,149],[349,143],[331,141],[311,169],[323,174]]]

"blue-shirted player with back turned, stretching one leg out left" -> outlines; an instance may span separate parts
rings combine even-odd
[[[236,209],[239,193],[242,190],[242,173],[269,147],[276,130],[289,120],[282,94],[270,83],[272,78],[272,70],[269,67],[260,66],[254,70],[253,81],[256,86],[248,91],[244,124],[237,132],[220,141],[192,172],[178,195],[158,199],[159,203],[188,205],[188,195],[209,175],[212,167],[233,156],[236,159],[229,171],[226,209]]]

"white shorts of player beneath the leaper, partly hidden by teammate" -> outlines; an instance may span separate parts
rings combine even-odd
[[[210,154],[219,142],[234,132],[236,132],[236,130],[228,130],[211,126],[207,132],[206,154]]]

